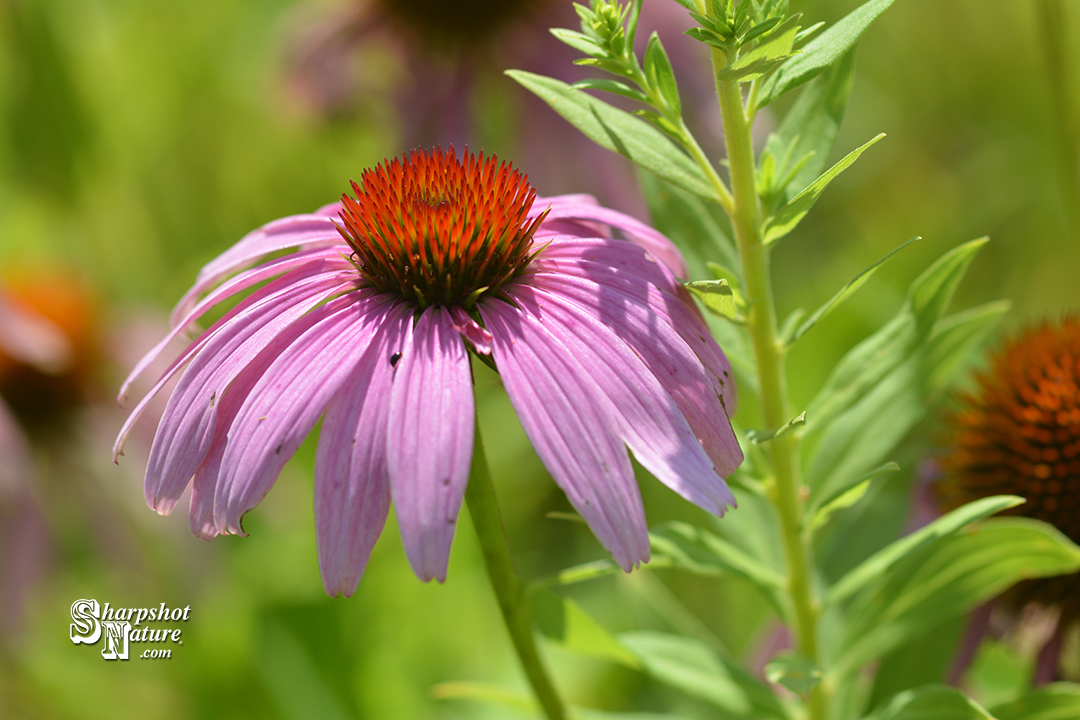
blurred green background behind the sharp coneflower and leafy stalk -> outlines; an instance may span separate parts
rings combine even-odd
[[[575,26],[569,3],[503,4],[521,14],[484,24],[469,13],[489,3],[432,3],[460,22],[431,10],[417,29],[390,0],[0,0],[0,283],[60,307],[81,368],[67,402],[31,403],[23,418],[35,476],[0,488],[0,717],[508,717],[432,692],[453,680],[524,688],[470,524],[447,582],[424,585],[391,518],[356,594],[330,599],[315,558],[313,438],[246,518],[251,536],[213,543],[190,534],[185,502],[170,518],[143,502],[151,418],[109,462],[124,418],[116,390],[199,268],[264,222],[333,202],[383,158],[468,142],[514,160],[541,194],[593,192],[644,217],[621,159],[591,150],[500,73],[576,77],[573,55],[545,32]],[[856,4],[792,2],[809,22]],[[707,68],[679,40],[685,12],[645,5],[715,150]],[[1003,331],[1080,308],[1078,44],[1080,6],[1049,0],[897,0],[866,33],[836,154],[889,137],[775,253],[781,313],[819,305],[895,245],[923,240],[795,349],[796,404],[960,242],[991,239],[958,302],[1011,299]],[[772,121],[760,122],[764,139]],[[495,376],[477,372],[477,396],[522,572],[604,557],[584,526],[548,516],[568,504]],[[874,530],[858,552],[902,531],[933,435],[924,423],[903,449],[905,472],[864,503],[864,534]],[[651,478],[643,490],[650,522],[712,521]],[[720,525],[753,521],[741,512]],[[645,570],[567,592],[610,629],[697,634],[747,662],[770,631],[760,598],[734,581]],[[105,662],[100,646],[68,638],[79,598],[190,606],[184,646],[170,660]],[[948,648],[935,652],[944,666]],[[1008,683],[1025,661],[1001,652],[984,665]],[[701,712],[631,670],[549,655],[578,704]]]

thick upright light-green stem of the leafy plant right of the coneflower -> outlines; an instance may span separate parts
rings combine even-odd
[[[713,50],[714,67],[729,64],[723,51]],[[724,137],[731,172],[734,212],[731,225],[743,264],[743,288],[747,303],[747,330],[757,361],[761,385],[761,412],[765,426],[775,430],[791,420],[787,388],[784,380],[784,350],[777,332],[777,311],[769,276],[768,249],[761,243],[761,212],[755,181],[754,147],[751,122],[743,107],[737,82],[717,82]],[[788,433],[767,446],[772,461],[774,487],[772,501],[780,516],[795,639],[801,654],[822,664],[819,642],[819,608],[811,582],[809,539],[802,532],[802,502],[799,498],[797,437]],[[810,696],[810,717],[824,720],[827,705],[825,690],[818,685]]]

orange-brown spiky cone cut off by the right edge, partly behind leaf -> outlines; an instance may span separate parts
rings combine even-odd
[[[1012,514],[1080,542],[1080,317],[1022,332],[977,382],[948,418],[942,503],[1021,495],[1027,502]],[[1071,623],[1080,620],[1080,573],[1025,581],[1004,599],[1061,608]]]

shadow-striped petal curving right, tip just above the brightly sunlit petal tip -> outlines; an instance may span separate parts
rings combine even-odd
[[[625,340],[675,400],[716,472],[724,477],[731,475],[742,463],[742,450],[731,429],[723,388],[716,386],[701,358],[672,327],[672,322],[685,322],[686,317],[671,320],[671,299],[663,298],[656,287],[640,283],[627,288],[605,280],[603,275],[537,272],[529,276],[529,284],[572,302],[584,317],[596,318]],[[731,384],[730,379],[727,384]]]

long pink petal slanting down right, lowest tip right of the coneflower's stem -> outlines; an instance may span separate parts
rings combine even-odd
[[[503,385],[548,472],[620,567],[647,562],[645,508],[613,403],[535,308],[486,299],[480,310]]]

